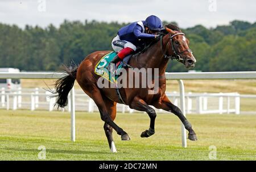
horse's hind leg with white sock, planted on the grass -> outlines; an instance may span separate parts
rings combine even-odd
[[[107,107],[107,110],[110,114],[110,118],[114,121],[115,119],[115,115],[117,113],[117,110],[116,110],[116,104],[115,102],[109,100],[108,102],[106,102],[106,107]],[[113,140],[113,136],[112,136],[112,132],[113,132],[113,128],[105,123],[104,124],[104,131],[105,131],[105,134],[106,134],[106,137],[108,139],[108,142],[109,142],[109,148],[110,148],[110,151],[115,153],[117,152],[117,150],[115,149],[115,144],[114,144],[114,140]]]

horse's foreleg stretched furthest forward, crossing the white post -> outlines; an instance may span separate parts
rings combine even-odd
[[[193,141],[197,140],[196,133],[193,131],[191,123],[189,123],[189,121],[185,118],[180,108],[172,104],[166,95],[161,102],[155,105],[155,107],[175,114],[184,124],[185,129],[188,130],[188,139]]]

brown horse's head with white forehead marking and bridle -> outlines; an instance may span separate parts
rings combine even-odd
[[[180,31],[178,27],[174,30],[174,25],[167,25],[164,36],[166,41],[166,51],[163,51],[166,57],[176,59],[182,62],[186,68],[193,68],[196,64],[196,58],[193,56],[191,49],[189,49],[189,40],[185,37],[185,34]],[[162,41],[162,40],[161,40]],[[168,54],[168,55],[167,55]]]

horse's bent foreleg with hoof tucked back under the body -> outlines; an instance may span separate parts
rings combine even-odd
[[[148,106],[144,100],[135,97],[133,100],[133,103],[131,103],[131,108],[138,110],[138,111],[144,111],[147,112],[148,116],[150,117],[150,128],[146,131],[143,131],[141,133],[141,137],[150,137],[154,135],[155,133],[155,118],[156,118],[156,113],[154,108]]]

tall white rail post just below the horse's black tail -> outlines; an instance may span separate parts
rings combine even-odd
[[[76,140],[76,114],[75,114],[75,87],[73,86],[70,92],[71,97],[71,141],[75,142]]]

